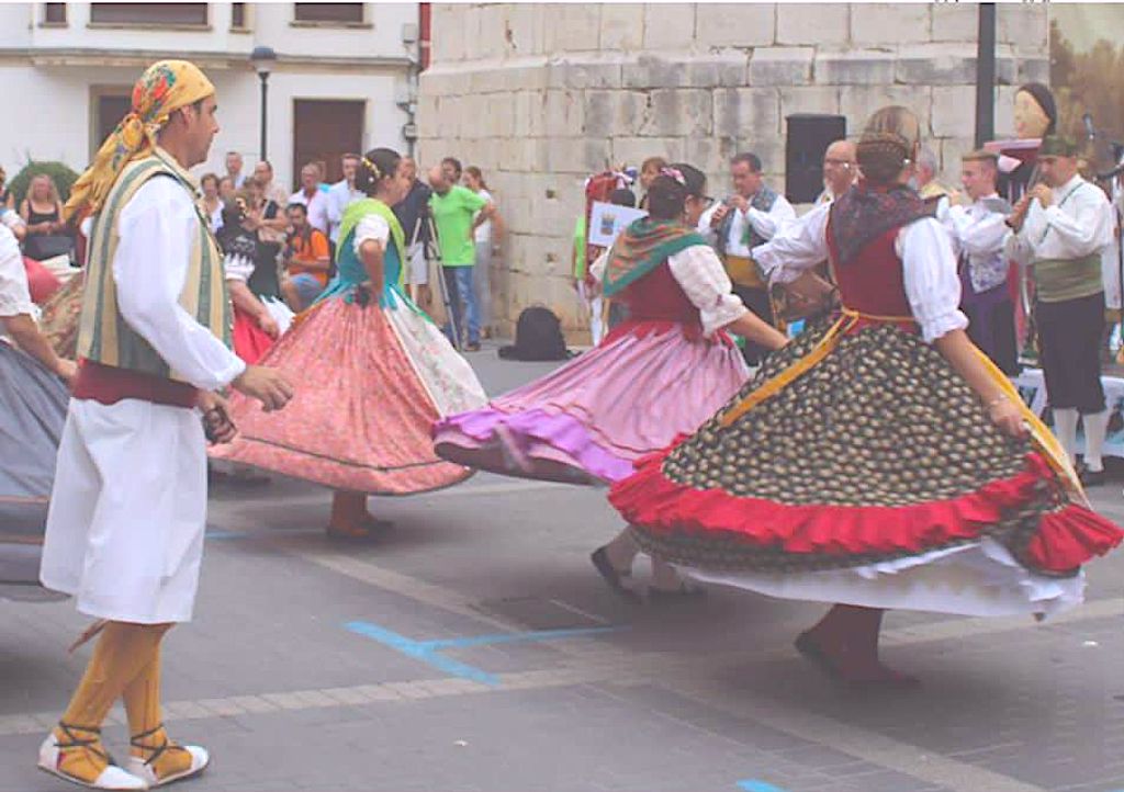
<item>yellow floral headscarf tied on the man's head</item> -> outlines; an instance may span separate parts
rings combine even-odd
[[[199,66],[188,61],[160,61],[145,70],[133,87],[133,109],[101,144],[93,164],[71,188],[63,216],[70,219],[87,209],[96,212],[121,170],[156,146],[156,135],[173,111],[215,93]]]

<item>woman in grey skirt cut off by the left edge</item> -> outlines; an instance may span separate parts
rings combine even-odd
[[[0,225],[0,498],[47,498],[76,367],[36,326],[16,237]]]

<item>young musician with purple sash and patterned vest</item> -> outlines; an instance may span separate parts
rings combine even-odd
[[[1013,375],[1018,373],[1015,304],[1004,252],[1010,204],[996,192],[998,158],[984,149],[961,158],[960,182],[972,203],[950,207],[942,201],[939,219],[952,236],[960,264],[960,309],[968,317],[968,337],[1003,373]]]

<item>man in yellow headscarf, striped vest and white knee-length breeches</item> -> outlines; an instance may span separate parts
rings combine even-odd
[[[169,738],[160,645],[188,621],[202,559],[206,434],[234,436],[227,385],[279,409],[291,388],[229,349],[221,256],[189,167],[218,131],[215,88],[185,61],[149,66],[132,111],[75,183],[67,217],[92,212],[78,352],[40,580],[100,632],[39,767],[94,789],[151,789],[198,774],[198,746]],[[199,412],[202,412],[202,422]],[[100,728],[124,699],[130,747],[114,764]]]

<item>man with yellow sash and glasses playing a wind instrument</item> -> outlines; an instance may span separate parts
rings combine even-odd
[[[768,284],[761,279],[750,251],[772,239],[780,227],[796,219],[796,211],[783,195],[764,183],[761,160],[756,154],[738,154],[729,161],[734,194],[704,212],[698,231],[718,252],[734,293],[746,308],[774,325]],[[758,365],[765,349],[746,342],[745,361]]]

